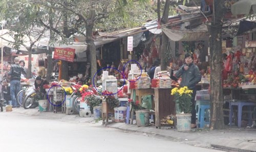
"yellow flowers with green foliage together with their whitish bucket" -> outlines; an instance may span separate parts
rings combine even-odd
[[[182,88],[174,88],[171,91],[171,95],[175,97],[176,118],[178,131],[190,131],[191,127],[191,94],[192,90],[189,90],[187,86]]]

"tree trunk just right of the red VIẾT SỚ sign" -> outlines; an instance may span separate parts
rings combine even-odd
[[[89,45],[89,50],[90,50],[90,59],[91,59],[91,82],[92,85],[93,83],[96,86],[97,82],[97,75],[95,76],[95,79],[93,79],[94,75],[97,72],[97,60],[96,60],[96,47],[93,41],[93,27],[94,27],[94,20],[95,20],[95,10],[91,9],[89,13],[89,18],[86,23],[86,42]]]

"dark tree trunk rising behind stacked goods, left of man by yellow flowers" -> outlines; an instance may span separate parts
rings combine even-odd
[[[168,14],[169,14],[169,7],[170,7],[170,1],[166,0],[163,10],[163,18],[162,18],[162,24],[166,24],[168,22]],[[168,40],[169,38],[162,32],[162,46],[160,49],[160,59],[161,59],[161,71],[165,71],[167,68],[167,63],[165,60],[165,52],[167,50],[168,46]]]

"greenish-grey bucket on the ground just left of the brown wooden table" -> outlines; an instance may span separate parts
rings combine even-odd
[[[150,110],[137,110],[135,113],[137,126],[150,125]]]

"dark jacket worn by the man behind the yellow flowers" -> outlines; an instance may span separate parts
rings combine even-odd
[[[179,78],[181,76],[181,83],[180,86],[187,86],[188,89],[195,89],[196,84],[201,81],[201,73],[198,69],[198,67],[195,64],[190,64],[188,67],[188,70],[184,70],[183,65],[179,71],[176,72],[175,76]]]

